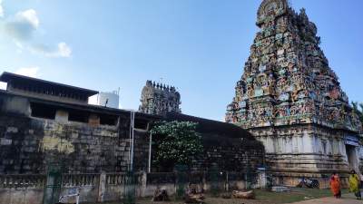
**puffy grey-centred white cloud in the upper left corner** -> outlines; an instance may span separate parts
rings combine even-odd
[[[39,27],[39,19],[34,9],[18,12],[5,22],[5,33],[15,41],[28,41]]]

